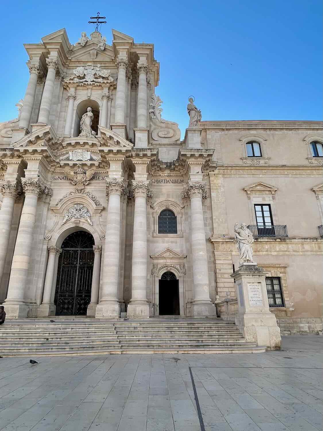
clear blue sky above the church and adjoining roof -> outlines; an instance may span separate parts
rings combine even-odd
[[[111,28],[155,44],[162,116],[188,125],[193,94],[203,120],[322,120],[321,0],[21,1],[2,7],[0,121],[16,117],[29,72],[24,43],[66,28],[72,44],[97,11]],[[10,16],[14,16],[13,22]]]

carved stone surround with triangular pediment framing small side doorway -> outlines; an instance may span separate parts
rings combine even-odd
[[[186,315],[185,275],[186,256],[182,256],[174,250],[167,248],[152,259],[152,307],[153,315],[159,315],[159,280],[164,272],[171,271],[176,275],[180,296],[180,315]]]

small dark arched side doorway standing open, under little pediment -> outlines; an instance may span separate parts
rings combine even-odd
[[[166,271],[159,280],[159,315],[180,314],[180,294],[176,275]]]

